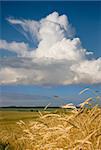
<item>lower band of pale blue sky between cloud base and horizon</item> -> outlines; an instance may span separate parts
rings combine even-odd
[[[1,98],[3,106],[45,106],[51,103],[51,106],[60,106],[66,103],[79,104],[89,97],[95,97],[91,91],[86,91],[84,94],[79,95],[79,92],[85,88],[91,88],[93,91],[99,91],[101,95],[101,85],[69,85],[57,87],[39,87],[39,86],[1,86]],[[59,99],[54,96],[58,95]]]

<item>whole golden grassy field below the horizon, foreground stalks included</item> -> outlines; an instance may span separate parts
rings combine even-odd
[[[0,150],[101,150],[101,108],[1,110]]]

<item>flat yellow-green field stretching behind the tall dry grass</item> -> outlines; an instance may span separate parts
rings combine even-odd
[[[43,111],[42,108],[0,108],[0,129],[12,128],[14,131],[18,121],[36,121],[40,117],[40,112],[51,111],[54,111],[54,108],[47,111]]]

